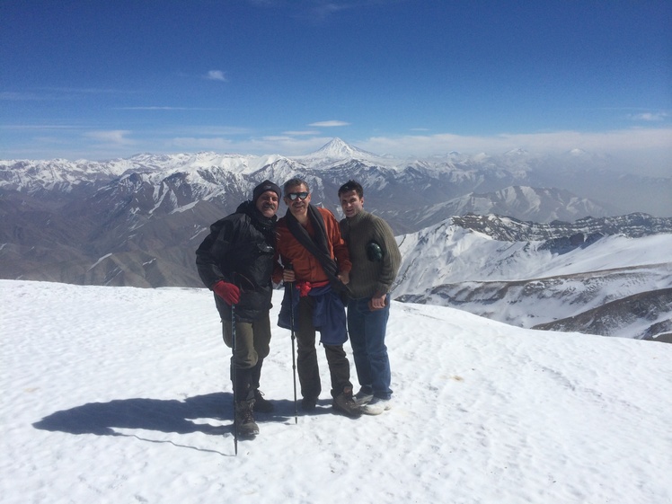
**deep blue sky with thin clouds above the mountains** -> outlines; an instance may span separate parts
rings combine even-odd
[[[0,158],[332,137],[433,155],[579,147],[672,166],[672,2],[7,0]]]

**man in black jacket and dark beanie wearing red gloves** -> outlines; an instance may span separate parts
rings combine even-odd
[[[232,312],[235,314],[231,379],[235,386],[236,424],[243,436],[259,433],[253,411],[273,410],[272,403],[259,390],[259,381],[263,359],[269,355],[271,276],[280,195],[276,184],[261,182],[254,188],[252,200],[210,226],[210,234],[196,251],[200,279],[215,293],[224,340],[230,348]]]

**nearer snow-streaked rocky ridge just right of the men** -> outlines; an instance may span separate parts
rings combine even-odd
[[[400,301],[533,329],[672,341],[672,219],[453,217],[400,237]]]

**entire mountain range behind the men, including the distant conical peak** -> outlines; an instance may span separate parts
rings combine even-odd
[[[337,217],[340,185],[349,179],[362,183],[366,208],[384,217],[402,244],[402,274],[394,291],[400,299],[459,305],[526,327],[554,323],[637,338],[669,332],[672,309],[669,302],[659,303],[667,299],[664,292],[641,301],[661,306],[662,315],[646,327],[619,323],[606,331],[602,324],[599,332],[599,324],[579,317],[672,285],[664,253],[644,259],[635,247],[640,252],[632,255],[640,259],[625,261],[626,252],[619,252],[654,235],[670,236],[672,219],[664,216],[672,215],[672,179],[614,172],[607,157],[579,150],[558,156],[518,149],[397,159],[334,138],[312,154],[292,157],[198,153],[107,162],[0,161],[0,278],[199,287],[194,251],[208,226],[249,199],[260,181],[281,185],[294,176],[309,182],[314,204]],[[281,207],[279,214],[284,212]],[[668,244],[661,243],[662,250],[672,250]],[[591,269],[575,266],[597,252],[621,259]],[[569,258],[574,262],[561,261]],[[614,279],[627,276],[623,270],[631,281],[618,284]],[[608,296],[588,303],[572,296],[576,289],[560,289],[553,296],[562,306],[539,302],[538,291],[550,292],[551,283],[590,283],[595,289],[597,278],[598,290],[609,290]],[[540,279],[553,282],[520,287],[520,282],[538,286],[534,282]],[[501,284],[492,297],[491,282],[506,288]],[[465,292],[472,301],[464,301]],[[526,302],[533,298],[534,304]],[[515,316],[506,309],[511,304],[526,307]],[[535,314],[537,307],[544,316]]]

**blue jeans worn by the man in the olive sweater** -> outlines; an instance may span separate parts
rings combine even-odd
[[[385,346],[385,330],[390,305],[373,312],[368,309],[370,298],[350,299],[348,302],[348,332],[359,385],[370,386],[374,396],[389,399],[392,395],[390,359]]]

